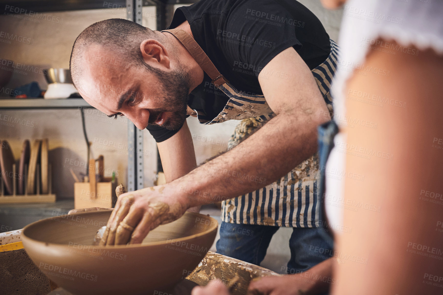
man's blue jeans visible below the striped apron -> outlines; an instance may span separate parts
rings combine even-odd
[[[217,253],[260,265],[269,242],[278,229],[278,226],[221,222]],[[287,272],[304,272],[319,264],[329,258],[319,253],[325,250],[328,250],[326,253],[331,253],[332,247],[332,238],[322,228],[292,228],[289,239],[291,259]]]

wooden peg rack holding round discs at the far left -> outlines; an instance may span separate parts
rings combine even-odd
[[[5,185],[4,180],[0,180],[0,204],[11,204],[11,203],[55,203],[55,194],[52,193],[52,167],[51,164],[48,164],[48,176],[46,181],[47,183],[42,183],[42,179],[40,177],[40,165],[37,164],[35,169],[35,194],[29,194],[27,189],[27,174],[18,175],[16,173],[16,164],[12,165],[12,173],[14,175],[12,181],[12,194],[5,194]],[[25,171],[27,170],[27,166],[25,166]],[[16,177],[17,175],[17,177]],[[24,194],[17,194],[17,178],[24,177]],[[48,189],[47,194],[42,194],[42,185],[46,186]]]

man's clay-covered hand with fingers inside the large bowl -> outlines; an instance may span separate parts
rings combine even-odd
[[[100,245],[140,244],[152,229],[181,217],[189,208],[186,198],[168,194],[165,188],[167,185],[121,194]]]

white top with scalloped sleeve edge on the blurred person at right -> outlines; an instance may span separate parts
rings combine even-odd
[[[433,49],[443,55],[443,0],[350,0],[343,11],[339,35],[340,61],[332,85],[334,97],[334,118],[338,125],[348,124],[345,118],[346,81],[353,72],[382,71],[383,69],[362,67],[368,50],[376,46],[377,39],[394,40],[400,46],[384,43],[383,50],[390,54],[396,51],[418,55],[418,50]],[[364,74],[364,73],[363,73]],[[385,104],[387,101],[365,101]],[[401,106],[400,106],[401,107]],[[349,114],[348,114],[349,115]],[[347,204],[343,198],[343,179],[337,179],[328,171],[344,171],[345,153],[339,152],[338,145],[346,144],[346,138],[339,133],[334,138],[336,147],[331,151],[326,164],[326,214],[333,229],[340,229],[343,210],[358,210],[355,204]],[[328,175],[329,174],[329,175]],[[361,205],[361,204],[360,204]],[[356,207],[356,208],[354,208]],[[377,210],[377,208],[375,208]],[[341,231],[336,231],[341,233]]]

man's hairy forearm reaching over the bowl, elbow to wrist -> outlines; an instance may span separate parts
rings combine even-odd
[[[237,147],[171,183],[190,206],[260,189],[291,171],[317,149],[316,120],[280,114]]]

